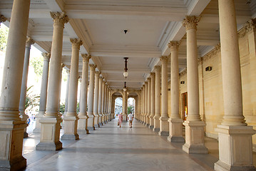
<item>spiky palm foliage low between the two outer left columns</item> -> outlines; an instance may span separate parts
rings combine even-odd
[[[33,95],[31,88],[33,86],[30,86],[29,88],[26,89],[26,100],[25,100],[25,108],[24,110],[31,110],[34,108],[36,105],[39,105],[39,95]]]

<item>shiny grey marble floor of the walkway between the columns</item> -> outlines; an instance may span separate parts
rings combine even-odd
[[[216,140],[205,138],[208,155],[188,155],[183,143],[170,143],[137,120],[133,128],[128,123],[119,128],[112,120],[90,134],[80,134],[80,140],[61,140],[63,150],[54,152],[36,151],[39,138],[31,133],[24,139],[25,170],[213,170],[218,160]]]

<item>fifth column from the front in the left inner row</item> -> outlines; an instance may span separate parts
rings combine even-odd
[[[88,130],[95,130],[94,127],[94,115],[93,115],[93,93],[94,93],[94,80],[95,80],[95,69],[96,65],[89,64],[90,66],[90,83],[89,83],[89,94],[88,94],[88,118],[87,128]]]

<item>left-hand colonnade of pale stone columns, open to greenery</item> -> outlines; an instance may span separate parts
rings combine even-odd
[[[29,53],[32,38],[27,38],[30,1],[14,0],[9,37],[4,64],[4,85],[1,88],[0,100],[0,151],[1,169],[20,170],[26,167],[26,159],[22,156],[23,138],[26,137],[26,119],[24,113],[26,98],[26,82],[29,67]],[[22,7],[22,8],[21,8]],[[43,76],[41,82],[41,98],[39,113],[36,115],[34,133],[41,133],[36,150],[60,150],[61,115],[59,113],[61,71],[63,68],[62,46],[63,28],[68,22],[65,12],[51,12],[53,18],[53,38],[51,53],[43,53]],[[1,22],[6,18],[1,15]],[[17,29],[19,28],[19,29]],[[103,80],[96,65],[89,64],[88,54],[83,57],[81,83],[80,113],[76,113],[78,91],[78,58],[82,45],[80,38],[71,38],[71,69],[68,71],[66,91],[66,108],[63,115],[64,134],[62,140],[77,140],[78,133],[89,133],[103,123],[112,119],[110,88]],[[26,51],[25,51],[26,50]],[[50,59],[51,58],[51,59]],[[88,68],[90,81],[88,90]],[[88,95],[88,97],[87,97]],[[87,106],[88,101],[88,106]],[[87,112],[88,107],[88,112]]]

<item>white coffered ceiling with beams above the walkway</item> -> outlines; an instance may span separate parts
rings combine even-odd
[[[12,3],[0,0],[0,14],[10,18]],[[235,5],[238,28],[256,16],[256,1],[235,0]],[[71,64],[69,40],[81,38],[81,53],[91,54],[90,63],[96,63],[111,88],[122,88],[124,81],[128,88],[140,88],[153,66],[160,65],[159,57],[169,55],[169,41],[182,40],[179,49],[182,71],[186,66],[182,21],[187,15],[201,16],[199,57],[220,41],[217,0],[31,0],[28,36],[43,52],[51,51],[53,19],[50,11],[66,11],[70,19],[63,35],[62,60],[66,68],[70,69]],[[126,79],[123,77],[124,57],[128,57]]]

